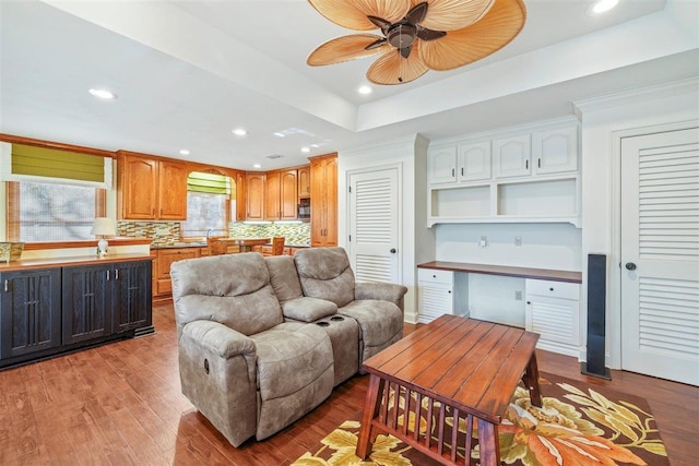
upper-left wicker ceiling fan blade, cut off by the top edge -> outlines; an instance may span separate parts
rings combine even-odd
[[[308,0],[333,23],[355,31],[371,31],[377,26],[367,16],[394,23],[405,16],[411,0]]]

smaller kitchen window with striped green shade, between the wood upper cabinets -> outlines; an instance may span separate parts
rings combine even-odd
[[[192,171],[187,178],[187,220],[182,222],[182,238],[224,236],[230,219],[229,177]]]

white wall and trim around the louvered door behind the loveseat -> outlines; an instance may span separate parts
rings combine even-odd
[[[412,135],[380,145],[341,151],[337,154],[337,242],[347,248],[348,171],[399,165],[402,172],[401,284],[405,295],[405,321],[417,322],[417,264],[434,260],[435,236],[427,228],[427,141]]]

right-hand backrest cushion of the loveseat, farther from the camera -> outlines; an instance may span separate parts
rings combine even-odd
[[[294,255],[304,296],[333,301],[339,308],[354,300],[354,273],[343,248],[308,248]]]

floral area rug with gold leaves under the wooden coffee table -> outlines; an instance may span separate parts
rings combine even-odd
[[[529,393],[518,387],[498,428],[500,458],[507,465],[670,465],[665,446],[645,399],[588,385],[557,375],[541,374],[543,407],[532,406]],[[435,403],[433,416],[438,416]],[[399,407],[399,413],[401,408]],[[423,405],[423,417],[427,405]],[[355,455],[362,413],[321,440],[311,452],[293,463],[295,466],[382,465],[431,466],[439,463],[411,449],[391,435],[379,434],[370,457],[363,462]],[[434,418],[438,419],[438,418]],[[399,417],[399,425],[402,416]],[[411,417],[408,422],[414,422]],[[453,418],[446,418],[451,429]],[[433,422],[433,425],[436,422]],[[420,434],[426,434],[420,421]],[[435,427],[436,431],[437,427]],[[465,432],[465,421],[459,420]],[[431,433],[437,439],[435,433]],[[446,435],[448,437],[448,435]],[[459,443],[464,444],[464,443]],[[459,464],[465,452],[458,450]],[[478,464],[477,442],[470,452],[471,464]]]

